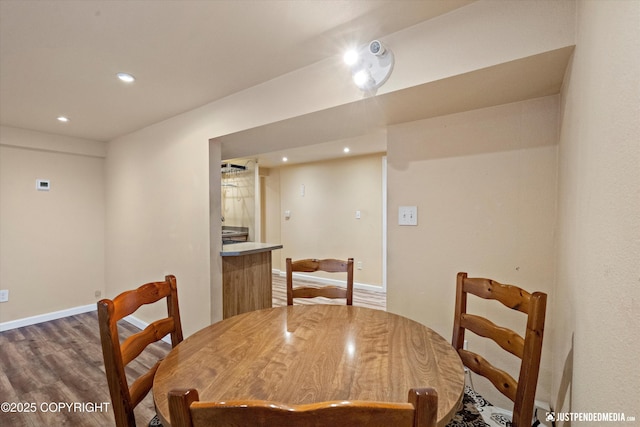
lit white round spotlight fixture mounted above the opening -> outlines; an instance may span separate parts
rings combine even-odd
[[[343,59],[356,86],[368,92],[374,92],[387,81],[395,62],[393,52],[380,40],[347,51]]]

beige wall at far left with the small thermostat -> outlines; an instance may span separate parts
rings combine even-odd
[[[0,323],[104,295],[105,155],[101,142],[0,128]]]

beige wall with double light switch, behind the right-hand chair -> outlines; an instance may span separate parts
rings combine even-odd
[[[547,292],[553,300],[557,104],[553,96],[389,128],[389,311],[449,339],[460,271]],[[398,225],[398,207],[405,205],[418,207],[417,226]],[[479,314],[490,310],[482,303],[470,307]],[[501,319],[524,327],[524,316]],[[552,316],[547,322],[553,329]],[[501,366],[496,357],[504,352],[491,351],[487,340],[468,339],[471,350],[493,355],[488,359]],[[547,340],[538,386],[546,400],[551,353]],[[509,407],[477,378],[484,396]]]

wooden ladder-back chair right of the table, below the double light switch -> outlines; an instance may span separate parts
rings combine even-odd
[[[487,300],[497,300],[509,309],[526,315],[527,325],[524,337],[509,328],[496,325],[485,317],[467,313],[468,294]],[[546,305],[547,294],[545,293],[530,294],[517,286],[504,285],[490,279],[470,278],[467,277],[467,273],[458,273],[452,345],[467,368],[489,379],[513,402],[512,427],[525,427],[532,424]],[[493,366],[479,354],[465,350],[463,347],[466,330],[492,339],[503,350],[518,357],[520,359],[518,381],[507,372]],[[474,392],[474,398],[467,400],[482,402],[484,399]],[[482,412],[483,408],[478,410]]]

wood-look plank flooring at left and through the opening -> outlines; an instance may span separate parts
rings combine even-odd
[[[318,304],[343,300],[319,298],[314,301]],[[314,301],[296,300],[296,304]],[[284,277],[274,275],[273,306],[283,305],[286,305]],[[384,310],[386,296],[356,289],[354,305]],[[120,331],[121,336],[126,337],[139,329],[123,321]],[[170,347],[164,342],[149,346],[127,366],[127,373],[136,377],[148,370]],[[5,402],[11,405],[9,412]],[[81,406],[69,410],[58,402]],[[1,332],[0,404],[2,427],[115,425],[96,312]],[[107,410],[91,411],[90,404],[103,404]],[[24,412],[33,409],[33,412]],[[137,425],[146,426],[155,414],[151,393],[135,412]]]

